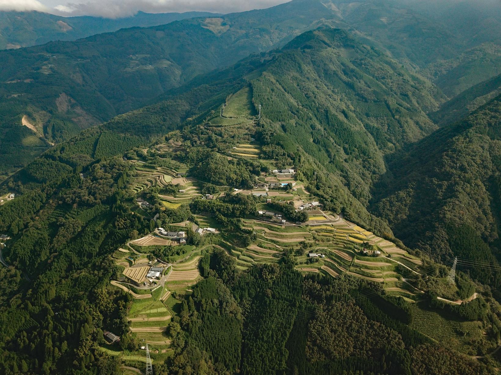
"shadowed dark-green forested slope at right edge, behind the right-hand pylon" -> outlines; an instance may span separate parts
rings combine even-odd
[[[372,212],[408,246],[437,259],[496,263],[501,201],[501,96],[394,155]],[[499,285],[489,272],[482,282]]]

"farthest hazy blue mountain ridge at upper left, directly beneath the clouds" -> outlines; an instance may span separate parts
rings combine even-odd
[[[62,17],[39,11],[0,11],[0,49],[29,47],[52,40],[76,40],[126,27],[147,27],[185,18],[217,16],[209,12],[144,13],[130,17]]]

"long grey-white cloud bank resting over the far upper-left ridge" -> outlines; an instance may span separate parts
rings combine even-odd
[[[290,0],[89,0],[86,2],[69,1],[55,6],[54,11],[51,12],[61,15],[85,14],[106,18],[126,17],[136,14],[139,10],[149,13],[192,10],[230,13],[267,8],[287,1]]]

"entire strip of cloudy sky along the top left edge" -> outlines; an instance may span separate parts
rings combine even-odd
[[[71,15],[125,17],[142,10],[149,13],[190,10],[230,13],[262,9],[290,0],[0,0],[0,10],[39,10]]]

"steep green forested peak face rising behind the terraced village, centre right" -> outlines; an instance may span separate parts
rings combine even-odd
[[[383,156],[436,128],[425,112],[441,99],[429,81],[339,29],[295,38],[251,84],[263,117],[279,129],[271,143],[304,150],[337,175],[326,181],[362,204],[385,173]],[[337,210],[357,206],[338,202]]]

